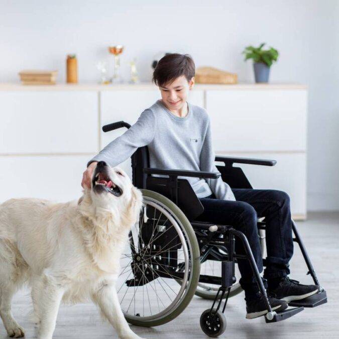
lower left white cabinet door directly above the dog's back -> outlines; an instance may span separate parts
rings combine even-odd
[[[35,197],[55,201],[78,199],[87,161],[93,156],[0,157],[0,203]]]

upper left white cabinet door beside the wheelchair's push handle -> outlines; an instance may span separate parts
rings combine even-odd
[[[0,154],[98,149],[95,91],[0,93]]]

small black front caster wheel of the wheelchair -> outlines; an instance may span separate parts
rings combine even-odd
[[[208,336],[219,336],[226,329],[226,317],[220,310],[215,311],[215,308],[213,308],[211,312],[208,308],[200,316],[200,326]]]

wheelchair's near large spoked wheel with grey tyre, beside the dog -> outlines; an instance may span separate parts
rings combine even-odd
[[[177,317],[192,299],[199,246],[177,205],[159,193],[141,191],[144,206],[123,251],[116,286],[128,322],[157,326]]]

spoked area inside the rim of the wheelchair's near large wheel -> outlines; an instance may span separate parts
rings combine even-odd
[[[190,276],[191,256],[180,225],[168,210],[150,207],[144,206],[130,232],[117,282],[123,311],[138,318],[156,318],[176,307]]]

